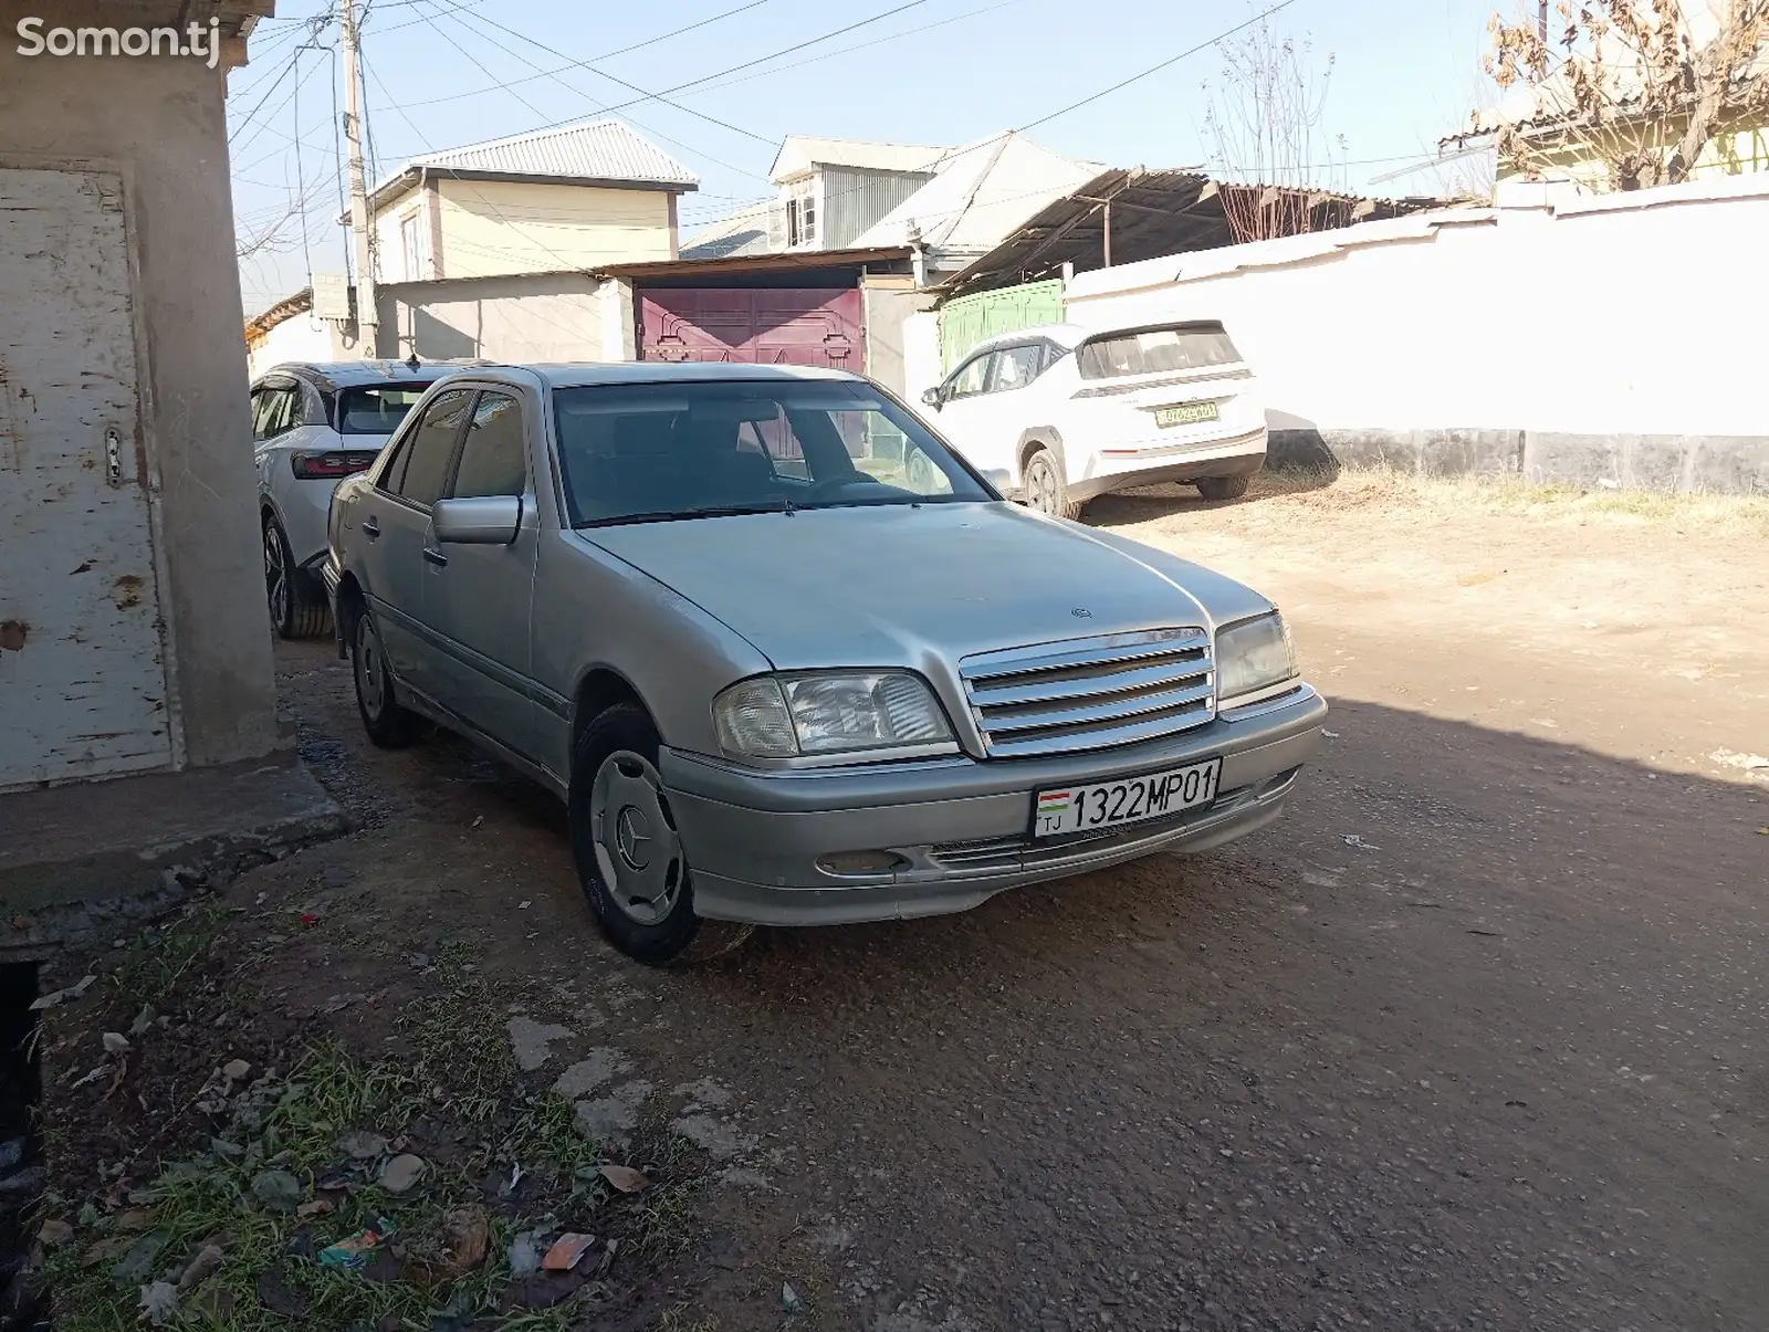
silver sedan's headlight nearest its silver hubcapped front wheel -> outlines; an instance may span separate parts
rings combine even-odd
[[[902,670],[759,676],[713,700],[718,743],[750,759],[957,748],[934,692]]]

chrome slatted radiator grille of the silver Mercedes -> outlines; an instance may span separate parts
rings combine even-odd
[[[959,676],[991,759],[1155,739],[1215,716],[1201,628],[1143,630],[978,653]]]

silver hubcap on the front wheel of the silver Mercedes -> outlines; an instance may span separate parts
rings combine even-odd
[[[663,922],[686,863],[656,768],[632,750],[610,754],[589,792],[589,824],[609,895],[639,925]]]

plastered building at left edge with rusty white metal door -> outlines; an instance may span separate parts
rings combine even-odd
[[[276,746],[226,142],[272,9],[0,0],[0,792]]]

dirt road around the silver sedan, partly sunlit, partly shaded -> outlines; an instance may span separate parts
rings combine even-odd
[[[391,1015],[471,957],[460,1022],[555,1028],[524,1095],[570,1068],[693,1180],[628,1321],[580,1327],[1769,1327],[1764,511],[1344,476],[1086,520],[1284,609],[1334,715],[1279,824],[653,971],[550,798],[371,750],[343,663],[283,644],[363,831],[226,890],[249,943],[186,1040],[423,1061]]]

